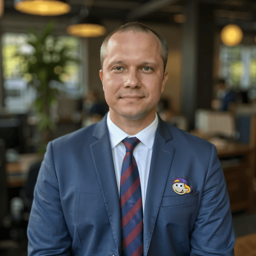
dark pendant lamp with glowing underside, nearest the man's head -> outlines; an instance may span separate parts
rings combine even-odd
[[[66,31],[71,36],[78,37],[98,37],[106,34],[106,28],[100,19],[90,14],[86,6],[81,9],[78,16],[70,21]]]

